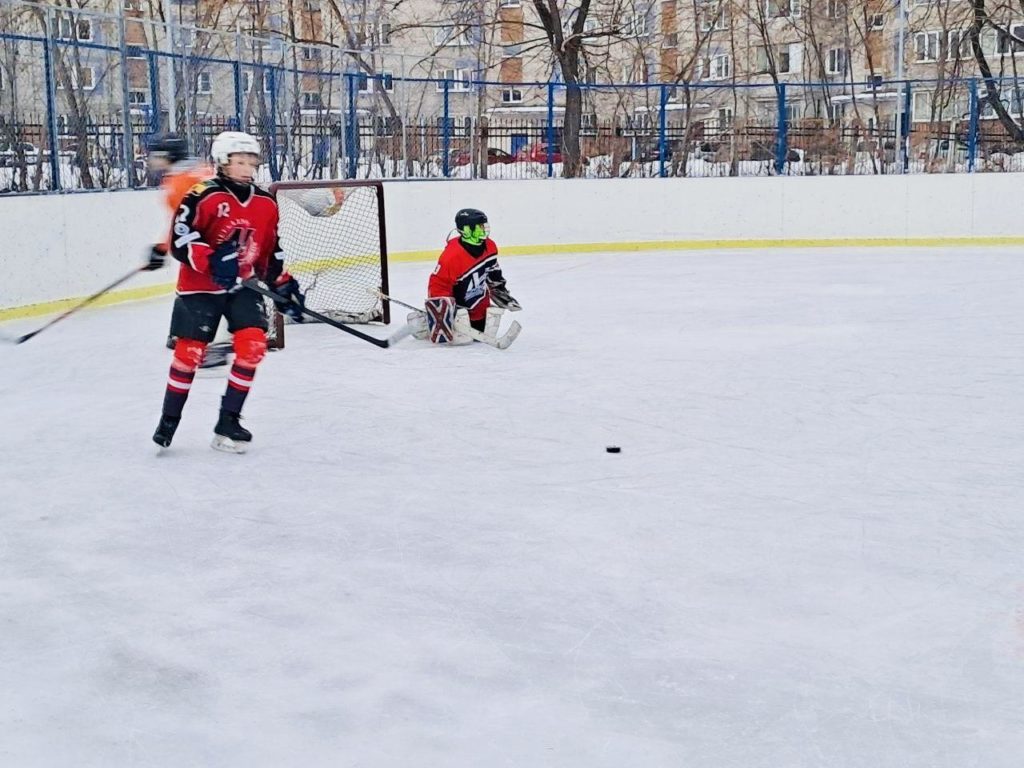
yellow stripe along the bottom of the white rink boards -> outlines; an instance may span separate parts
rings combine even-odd
[[[639,251],[716,251],[728,249],[770,249],[770,248],[941,248],[955,246],[1024,246],[1024,237],[991,238],[812,238],[778,240],[651,240],[625,243],[557,243],[542,246],[499,247],[503,256],[546,256],[557,253],[635,253]],[[441,249],[429,251],[398,251],[388,254],[388,261],[432,261],[440,255]],[[358,263],[361,257],[338,259],[343,265]],[[335,261],[322,260],[322,263]],[[303,271],[299,269],[299,271]],[[110,306],[124,301],[138,301],[156,296],[164,296],[174,291],[173,284],[131,288],[116,291],[98,299],[93,306]],[[82,297],[47,301],[0,309],[0,322],[23,317],[37,317],[54,314],[73,307]]]

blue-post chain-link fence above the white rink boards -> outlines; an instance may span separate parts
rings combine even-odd
[[[144,186],[146,142],[167,130],[200,156],[222,130],[252,132],[263,181],[1024,169],[1016,79],[569,87],[483,71],[458,49],[0,0],[0,191]]]

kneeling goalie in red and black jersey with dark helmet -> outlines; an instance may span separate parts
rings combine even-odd
[[[494,337],[506,309],[522,309],[505,284],[486,215],[463,208],[455,215],[455,228],[458,236],[444,246],[430,274],[426,323],[416,334],[435,344],[468,343],[460,326]]]

